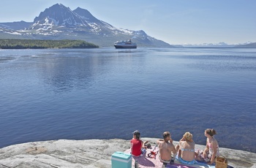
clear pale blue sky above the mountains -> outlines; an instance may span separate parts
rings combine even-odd
[[[56,3],[173,45],[256,42],[255,0],[3,0],[0,23],[32,22]]]

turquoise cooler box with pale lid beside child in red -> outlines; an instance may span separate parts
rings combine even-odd
[[[132,155],[129,153],[115,152],[111,156],[112,168],[131,168]]]

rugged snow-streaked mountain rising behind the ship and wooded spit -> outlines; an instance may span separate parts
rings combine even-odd
[[[118,40],[132,39],[138,47],[173,47],[148,36],[145,31],[116,28],[98,20],[78,7],[75,10],[63,4],[54,4],[40,12],[33,22],[0,23],[1,39],[82,39],[99,46],[113,46]]]

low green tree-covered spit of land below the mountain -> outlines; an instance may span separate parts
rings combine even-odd
[[[94,48],[99,47],[83,40],[61,39],[0,39],[0,49],[45,49],[45,48]]]

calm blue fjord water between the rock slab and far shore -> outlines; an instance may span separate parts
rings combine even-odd
[[[256,153],[256,49],[0,50],[0,147],[162,138]]]

